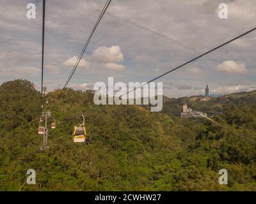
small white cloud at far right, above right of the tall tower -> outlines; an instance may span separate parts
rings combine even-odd
[[[231,73],[231,74],[243,74],[246,73],[246,66],[244,63],[237,64],[234,61],[225,61],[222,64],[219,64],[216,66],[216,69],[218,71],[222,71],[225,73]]]

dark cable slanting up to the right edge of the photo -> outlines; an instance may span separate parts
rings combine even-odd
[[[240,34],[240,35],[237,36],[236,38],[232,38],[231,40],[229,40],[229,41],[227,41],[227,42],[225,42],[225,43],[219,45],[218,47],[212,48],[211,50],[205,52],[204,54],[201,54],[201,55],[199,55],[198,57],[195,57],[195,58],[191,59],[190,61],[185,62],[184,64],[181,64],[181,65],[177,66],[176,68],[173,68],[173,69],[171,69],[170,71],[167,71],[166,73],[163,73],[162,75],[160,75],[160,76],[158,76],[158,77],[156,77],[156,78],[153,78],[152,80],[146,82],[145,84],[141,84],[140,86],[134,88],[134,89],[131,90],[131,91],[128,91],[126,94],[123,94],[122,96],[125,96],[125,95],[129,94],[129,92],[135,91],[136,89],[138,89],[138,88],[140,88],[140,87],[143,87],[144,85],[149,84],[150,82],[153,82],[153,81],[157,80],[158,78],[164,77],[164,76],[167,75],[168,73],[171,73],[172,71],[175,71],[176,69],[179,69],[179,68],[181,68],[182,66],[185,66],[186,64],[189,64],[189,63],[191,63],[191,62],[193,62],[193,61],[196,61],[196,59],[199,59],[199,58],[203,57],[204,55],[207,55],[207,54],[213,52],[214,50],[217,50],[218,48],[221,48],[221,47],[227,45],[228,43],[231,43],[232,41],[235,41],[235,40],[237,40],[237,39],[239,39],[239,38],[245,36],[246,34],[252,33],[252,32],[255,31],[255,30],[256,30],[256,27],[254,27],[254,28],[251,29],[250,31],[247,31],[247,32],[245,32],[245,33],[243,33],[243,34]],[[120,96],[120,98],[122,98],[122,96]]]

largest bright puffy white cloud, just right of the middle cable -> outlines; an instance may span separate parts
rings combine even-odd
[[[91,59],[94,61],[111,63],[120,62],[124,60],[124,55],[121,52],[121,48],[116,45],[112,47],[98,47],[93,51]]]

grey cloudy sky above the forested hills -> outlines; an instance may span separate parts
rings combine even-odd
[[[63,87],[106,0],[46,0],[45,86]],[[26,17],[35,3],[36,19]],[[228,19],[218,17],[220,3]],[[68,87],[145,82],[256,27],[255,0],[113,0]],[[0,0],[0,84],[16,78],[40,89],[42,1]],[[163,82],[169,97],[256,89],[256,32],[202,57]]]

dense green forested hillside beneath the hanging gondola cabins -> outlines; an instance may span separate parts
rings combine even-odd
[[[47,95],[57,128],[49,150],[37,134],[40,92],[25,80],[0,86],[0,190],[19,191],[26,171],[36,185],[22,191],[256,190],[256,105],[224,105],[216,123],[152,113],[135,105],[93,104],[93,93]],[[86,113],[86,143],[72,128]],[[228,170],[228,185],[218,171]]]

